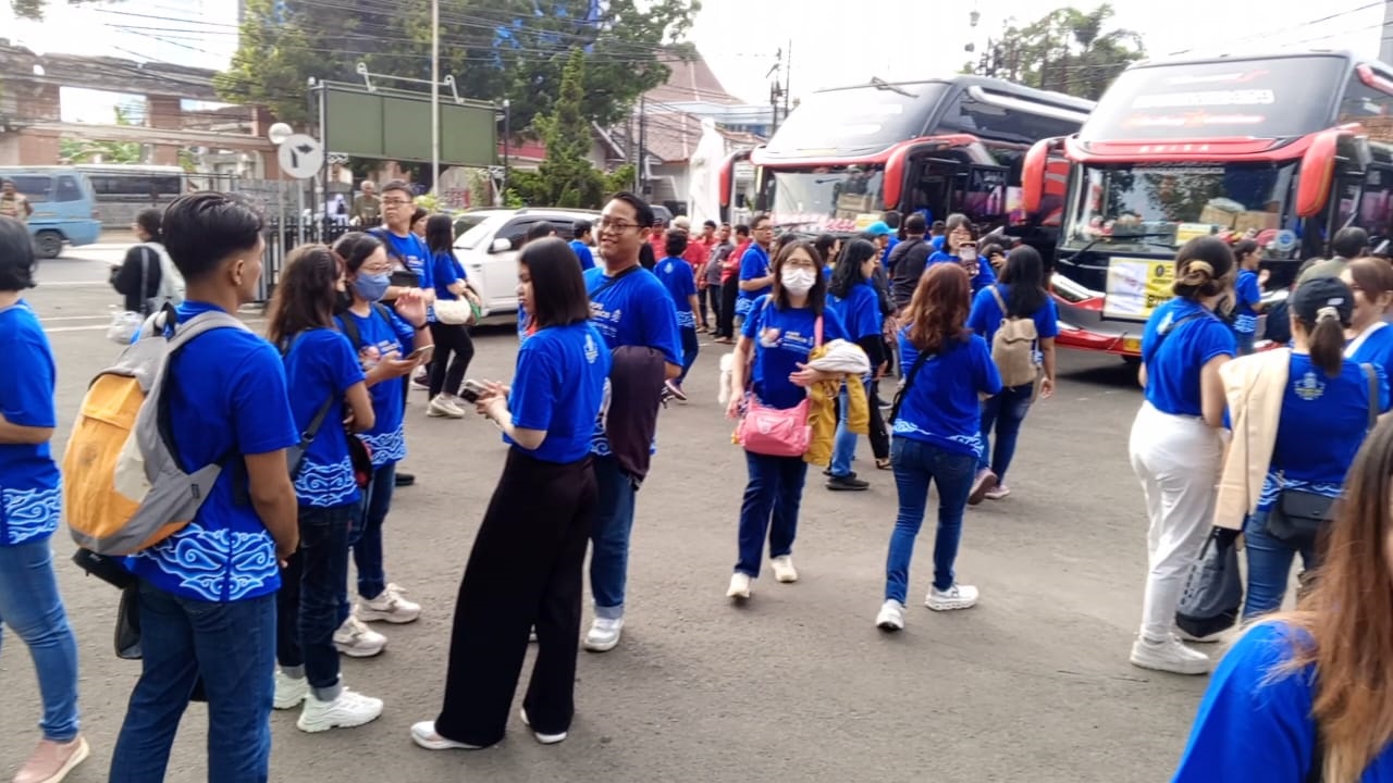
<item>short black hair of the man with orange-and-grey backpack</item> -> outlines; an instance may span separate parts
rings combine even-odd
[[[203,191],[174,199],[164,209],[164,249],[184,280],[201,280],[233,254],[256,247],[265,223],[238,196]]]

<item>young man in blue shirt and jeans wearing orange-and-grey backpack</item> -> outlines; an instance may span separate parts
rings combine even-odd
[[[159,390],[146,398],[157,404],[159,415],[149,417],[142,404],[137,418],[138,429],[150,419],[163,419],[164,426],[155,436],[132,436],[146,463],[173,457],[195,479],[209,468],[220,471],[210,474],[216,478],[206,492],[185,504],[196,509],[187,524],[166,524],[159,535],[167,538],[138,546],[127,560],[139,580],[143,659],[110,780],[164,779],[180,718],[199,680],[208,698],[209,780],[266,780],[276,591],[280,564],[298,546],[286,450],[299,436],[280,355],[235,319],[238,307],[255,300],[262,274],[262,220],[223,194],[187,195],[164,212],[164,247],[184,276],[187,301],[178,307],[173,330],[166,326],[162,334],[155,320],[148,322],[137,343],[159,346],[173,334]],[[196,336],[181,340],[181,330]],[[100,376],[93,389],[111,375]],[[96,435],[85,433],[82,424],[74,431],[70,457],[93,447]],[[160,447],[169,454],[159,453]],[[160,489],[167,474],[166,465],[148,495]],[[99,481],[88,476],[89,485]],[[117,489],[128,489],[120,476]],[[77,531],[85,524],[74,518],[82,515],[82,497],[70,493],[68,500],[70,506],[77,502],[70,514]],[[146,496],[141,506],[149,503]]]

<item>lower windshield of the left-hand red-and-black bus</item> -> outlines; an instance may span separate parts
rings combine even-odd
[[[865,228],[880,219],[885,166],[818,166],[765,170],[765,198],[775,226],[797,231]]]

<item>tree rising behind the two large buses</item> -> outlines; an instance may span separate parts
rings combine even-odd
[[[1146,53],[1137,32],[1103,32],[1112,18],[1112,4],[1103,3],[1092,11],[1057,8],[1028,25],[1009,25],[963,71],[1096,100]]]

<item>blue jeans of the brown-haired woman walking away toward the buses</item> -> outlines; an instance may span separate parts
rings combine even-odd
[[[933,539],[933,587],[953,587],[953,561],[963,539],[963,510],[972,493],[976,458],[908,437],[890,446],[894,486],[900,492],[900,514],[890,534],[890,556],[885,564],[885,598],[904,603],[910,585],[914,539],[924,525],[929,504],[929,482],[939,488],[939,532]]]

